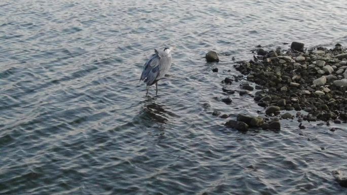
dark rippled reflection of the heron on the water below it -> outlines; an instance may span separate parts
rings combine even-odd
[[[168,111],[164,109],[164,106],[157,104],[156,97],[146,97],[147,99],[144,101],[144,116],[149,118],[151,121],[156,121],[159,123],[166,123],[168,121],[167,114],[170,114]]]

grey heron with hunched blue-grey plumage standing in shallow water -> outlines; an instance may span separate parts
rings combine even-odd
[[[144,69],[142,71],[140,82],[143,80],[147,86],[146,90],[148,93],[148,86],[151,86],[155,84],[157,95],[158,93],[158,81],[163,79],[165,74],[168,72],[168,70],[171,67],[171,48],[164,48],[163,51],[158,51],[154,49],[155,54],[153,54],[145,63]]]

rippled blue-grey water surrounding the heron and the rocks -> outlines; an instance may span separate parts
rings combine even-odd
[[[1,194],[345,194],[347,129],[283,120],[279,133],[226,129],[213,110],[258,44],[347,45],[347,2],[1,1]],[[138,79],[172,52],[159,92]],[[218,64],[204,61],[215,50]],[[218,67],[219,72],[212,72]],[[228,72],[227,70],[231,71]],[[239,83],[230,88],[239,90]],[[254,92],[253,92],[254,93]],[[321,148],[325,148],[322,150]]]

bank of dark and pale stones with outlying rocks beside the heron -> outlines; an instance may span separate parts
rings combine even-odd
[[[257,84],[255,88],[259,91],[255,93],[254,101],[266,108],[265,115],[238,114],[236,121],[226,122],[226,127],[240,131],[252,127],[280,130],[280,119],[295,117],[300,129],[305,129],[302,121],[323,121],[327,125],[347,122],[347,53],[340,44],[332,49],[305,50],[304,44],[293,42],[289,50],[265,51],[257,46],[252,52],[255,54],[253,59],[236,62],[234,67],[247,76],[249,82]],[[212,57],[206,54],[206,59],[218,61],[218,56],[212,54]],[[237,77],[226,78],[223,83],[231,84],[235,80]],[[242,89],[240,95],[253,91],[247,84],[242,85]],[[234,93],[226,88],[223,91]],[[222,101],[229,104],[232,100],[224,98]],[[289,112],[280,115],[281,110],[296,110],[297,113],[295,116]],[[302,110],[307,114],[301,113]],[[218,114],[214,112],[214,115]]]

